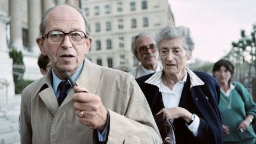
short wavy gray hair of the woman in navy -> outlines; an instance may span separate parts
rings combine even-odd
[[[185,26],[170,26],[162,28],[158,33],[156,33],[155,41],[156,47],[158,50],[160,49],[159,44],[164,39],[175,39],[182,38],[183,39],[183,47],[185,50],[194,50],[194,40],[191,37],[190,28]]]

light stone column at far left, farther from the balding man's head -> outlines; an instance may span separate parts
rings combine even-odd
[[[21,0],[9,1],[9,15],[10,20],[10,34],[11,47],[18,51],[23,50],[23,34],[22,34],[22,14],[21,14]]]

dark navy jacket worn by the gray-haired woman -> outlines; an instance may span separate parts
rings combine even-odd
[[[185,126],[183,119],[175,119],[175,137],[179,143],[222,143],[222,123],[218,108],[220,88],[217,80],[204,72],[194,72],[204,82],[204,85],[194,86],[190,89],[190,76],[187,76],[179,107],[183,107],[191,113],[197,114],[200,118],[198,135],[194,137]],[[145,81],[153,75],[146,75],[137,78],[136,81],[142,89],[151,107],[153,116],[162,108],[161,92],[155,85],[146,84]]]

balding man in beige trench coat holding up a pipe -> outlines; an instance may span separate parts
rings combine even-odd
[[[43,15],[36,41],[52,68],[23,90],[21,143],[161,143],[135,79],[84,58],[88,30],[85,16],[71,6]]]

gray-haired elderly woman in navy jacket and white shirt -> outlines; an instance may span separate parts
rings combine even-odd
[[[222,143],[219,84],[213,76],[186,66],[194,50],[190,29],[162,28],[156,46],[163,70],[136,79],[153,116],[172,121],[177,144]]]

